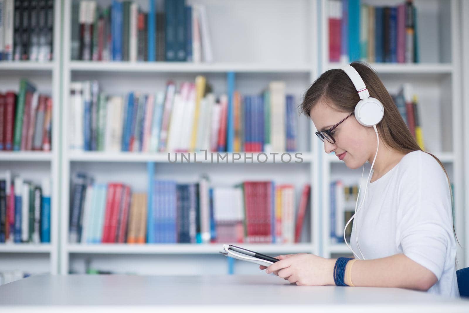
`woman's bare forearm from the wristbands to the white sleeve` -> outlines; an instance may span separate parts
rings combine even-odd
[[[346,272],[349,269],[350,262],[347,263]],[[431,270],[402,253],[375,260],[357,260],[352,265],[351,277],[355,286],[400,287],[422,291],[427,291],[438,281]]]

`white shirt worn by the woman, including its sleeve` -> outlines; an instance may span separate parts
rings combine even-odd
[[[369,183],[350,239],[361,259],[356,228],[366,260],[403,253],[438,278],[428,292],[459,298],[451,195],[445,172],[431,155],[410,152]]]

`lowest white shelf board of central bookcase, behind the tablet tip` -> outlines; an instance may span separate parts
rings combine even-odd
[[[236,245],[236,244],[235,244]],[[314,246],[300,244],[238,244],[259,253],[312,253]],[[90,254],[219,254],[223,244],[73,244],[68,253]]]

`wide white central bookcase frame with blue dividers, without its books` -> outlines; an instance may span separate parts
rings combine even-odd
[[[99,0],[98,4],[107,5],[111,1]],[[147,0],[135,1],[143,9],[148,10]],[[62,116],[69,114],[68,97],[71,82],[95,79],[100,90],[111,95],[124,95],[130,91],[145,93],[164,90],[166,81],[173,80],[179,89],[180,83],[194,81],[196,75],[204,75],[212,85],[214,93],[220,95],[228,92],[227,83],[234,76],[235,90],[244,94],[258,94],[265,89],[270,81],[286,82],[287,93],[295,96],[295,104],[299,104],[306,86],[317,76],[316,70],[316,33],[311,31],[316,24],[316,1],[294,1],[285,3],[273,1],[242,0],[235,3],[220,3],[213,0],[188,0],[188,4],[201,3],[207,10],[211,25],[211,38],[214,62],[129,62],[129,61],[81,61],[70,60],[70,22],[63,25],[63,80],[62,80]],[[64,21],[71,21],[72,1],[65,0]],[[259,15],[257,12],[264,12]],[[295,16],[293,20],[285,20],[285,16]],[[311,18],[311,16],[313,18]],[[285,22],[279,22],[283,21]],[[242,23],[241,23],[242,21]],[[215,27],[223,25],[227,27]],[[240,36],[239,28],[256,29]],[[291,36],[291,34],[295,34]],[[295,46],[295,58],[288,46]],[[278,62],[291,60],[291,62]],[[301,119],[303,118],[303,119]],[[271,155],[262,162],[259,153],[241,152],[234,157],[228,153],[227,163],[211,164],[212,157],[217,153],[209,153],[204,160],[204,153],[197,153],[197,163],[170,162],[175,155],[181,153],[138,153],[138,152],[101,152],[68,150],[67,119],[62,122],[62,197],[61,197],[61,267],[60,273],[84,272],[86,264],[93,268],[113,270],[119,273],[138,272],[144,274],[225,274],[232,271],[236,274],[262,273],[257,267],[242,262],[226,260],[220,257],[220,244],[71,244],[68,243],[68,219],[70,201],[70,179],[77,171],[92,173],[96,182],[123,181],[133,191],[146,192],[149,179],[173,179],[178,182],[195,182],[200,174],[210,177],[212,186],[232,186],[242,181],[273,180],[276,183],[290,183],[295,186],[295,203],[299,202],[301,188],[305,183],[311,184],[311,194],[317,194],[315,182],[314,155],[315,145],[312,138],[314,129],[305,117],[298,122],[298,152],[302,153],[303,162],[295,164],[280,163],[279,157],[274,163]],[[220,153],[224,155],[224,152]],[[292,153],[292,156],[294,154]],[[191,157],[194,154],[191,153]],[[251,161],[250,157],[253,158]],[[201,163],[199,160],[201,160]],[[298,244],[243,244],[252,250],[278,255],[281,253],[319,253],[315,246],[315,238],[319,233],[317,197],[311,201],[311,225],[307,234],[307,243]],[[311,231],[312,230],[312,231]],[[181,269],[181,265],[195,260],[198,265],[192,269]],[[200,261],[200,262],[198,262]],[[164,264],[159,269],[151,264]],[[187,267],[187,266],[184,266]]]

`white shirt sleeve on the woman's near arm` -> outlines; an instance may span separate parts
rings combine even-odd
[[[438,162],[430,155],[418,158],[418,165],[402,175],[396,240],[404,255],[439,280],[454,240],[451,195]]]

